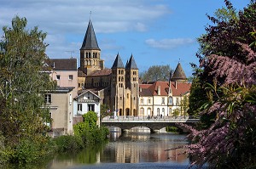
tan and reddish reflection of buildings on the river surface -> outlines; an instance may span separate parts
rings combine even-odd
[[[187,155],[183,155],[184,149],[173,149],[183,144],[172,144],[169,140],[152,137],[150,134],[122,134],[113,132],[119,138],[114,139],[109,148],[101,155],[101,162],[138,163],[138,162],[183,162]],[[175,140],[173,140],[175,141]],[[172,149],[165,151],[165,149]],[[106,158],[106,156],[108,156]],[[168,160],[169,157],[172,157]]]

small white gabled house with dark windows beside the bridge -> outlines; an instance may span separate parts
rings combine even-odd
[[[90,90],[84,91],[84,93],[79,94],[76,98],[73,99],[73,124],[82,121],[82,115],[86,114],[88,111],[96,112],[98,118],[101,116],[100,103],[101,98],[98,97],[95,93],[92,93]],[[99,125],[99,120],[97,121]]]

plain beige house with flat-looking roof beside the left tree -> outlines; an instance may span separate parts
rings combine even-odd
[[[74,87],[56,87],[55,91],[44,94],[45,106],[52,119],[49,136],[73,134],[73,93]]]

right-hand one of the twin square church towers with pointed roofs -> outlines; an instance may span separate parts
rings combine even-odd
[[[125,110],[129,109],[131,111],[129,112],[129,115],[137,115],[139,99],[138,69],[132,54],[131,58],[125,65],[125,87],[131,90],[130,107],[127,107]]]

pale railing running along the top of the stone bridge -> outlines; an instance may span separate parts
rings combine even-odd
[[[170,121],[170,120],[184,120],[184,119],[199,119],[193,115],[180,116],[134,116],[134,115],[109,115],[102,119],[102,121]]]

